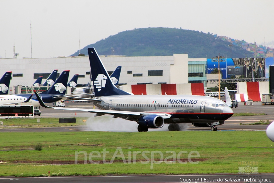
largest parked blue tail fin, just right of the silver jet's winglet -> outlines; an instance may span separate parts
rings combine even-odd
[[[65,95],[67,90],[69,70],[64,70],[58,79],[54,82],[52,87],[42,92],[43,94],[52,94],[52,95]]]

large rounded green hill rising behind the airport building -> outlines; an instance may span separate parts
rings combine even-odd
[[[220,55],[230,57],[230,42],[216,38],[213,34],[176,28],[141,28],[127,30],[109,36],[81,49],[94,47],[99,55],[126,56],[170,56],[187,53],[189,58],[211,58]],[[71,56],[78,56],[79,50]],[[233,58],[252,57],[253,53],[240,46],[232,47]]]

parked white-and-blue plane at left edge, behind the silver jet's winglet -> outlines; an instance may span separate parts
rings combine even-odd
[[[63,71],[49,90],[39,94],[44,102],[52,103],[63,99],[62,97],[54,97],[52,95],[65,95],[68,75],[69,70]],[[0,95],[0,105],[40,106],[37,98],[32,95],[33,94]]]

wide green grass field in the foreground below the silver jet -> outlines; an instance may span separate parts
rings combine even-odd
[[[0,176],[274,172],[274,142],[265,131],[3,132],[0,139]],[[38,143],[41,151],[33,149]],[[84,153],[74,164],[80,151],[88,164]],[[102,163],[104,154],[113,163]]]

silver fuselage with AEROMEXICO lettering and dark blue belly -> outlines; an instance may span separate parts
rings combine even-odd
[[[212,123],[233,115],[222,100],[200,95],[112,95],[95,99],[102,100],[94,102],[100,109],[170,114],[165,123]]]

